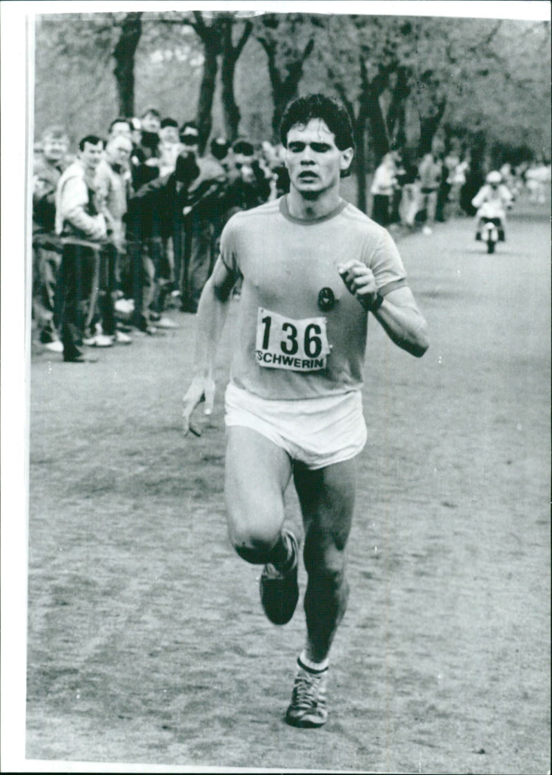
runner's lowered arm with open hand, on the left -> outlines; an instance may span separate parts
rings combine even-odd
[[[210,415],[214,405],[214,358],[228,314],[228,301],[236,277],[221,258],[214,265],[197,308],[197,334],[194,356],[194,377],[183,397],[183,432],[190,430],[190,416],[196,406],[205,401],[205,414]]]

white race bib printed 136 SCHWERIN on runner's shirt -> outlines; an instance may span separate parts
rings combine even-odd
[[[259,307],[255,356],[259,366],[291,371],[326,368],[326,319],[293,320]]]

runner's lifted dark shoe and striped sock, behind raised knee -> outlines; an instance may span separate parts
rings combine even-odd
[[[297,539],[289,530],[284,531],[290,546],[290,560],[286,570],[279,571],[273,563],[267,563],[262,569],[259,591],[261,604],[266,616],[275,625],[285,625],[290,621],[299,599],[297,570],[299,567],[299,546]]]

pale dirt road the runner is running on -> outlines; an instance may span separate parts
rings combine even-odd
[[[231,326],[201,439],[179,425],[190,315],[97,364],[33,357],[29,760],[550,770],[547,213],[520,205],[492,257],[468,220],[400,250],[431,346],[415,360],[371,322],[351,598],[319,731],[283,723],[303,611],[270,625],[259,568],[225,535]]]

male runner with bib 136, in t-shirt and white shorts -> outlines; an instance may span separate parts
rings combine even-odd
[[[237,553],[264,565],[261,601],[276,624],[297,605],[300,536],[284,527],[290,478],[304,523],[307,639],[286,721],[326,722],[328,653],[345,613],[345,545],[355,501],[355,456],[365,444],[362,361],[368,313],[403,350],[427,350],[395,243],[339,195],[353,158],[345,108],[324,95],[283,116],[290,193],[234,215],[197,314],[194,378],[183,430],[205,399],[231,288],[243,277],[231,381],[226,391],[225,495]]]

